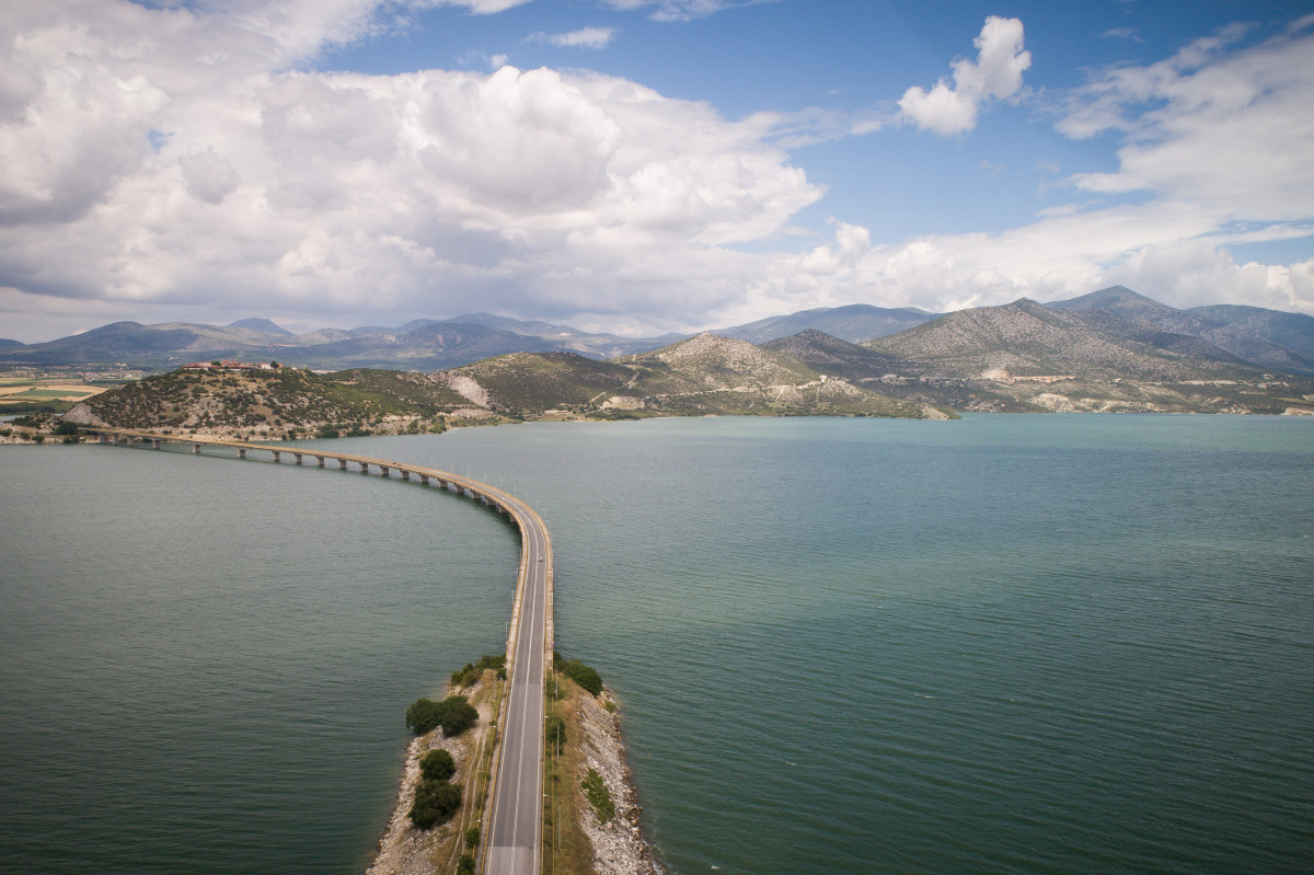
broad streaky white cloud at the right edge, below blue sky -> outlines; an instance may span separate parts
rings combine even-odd
[[[1126,145],[1117,171],[1072,181],[1189,201],[1219,225],[1314,215],[1314,37],[1281,35],[1227,55],[1223,45],[1194,43],[1079,91],[1059,130],[1122,130]]]

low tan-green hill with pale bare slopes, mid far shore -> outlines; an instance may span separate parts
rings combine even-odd
[[[711,334],[614,361],[516,353],[432,377],[511,416],[946,415],[823,377],[786,352]]]

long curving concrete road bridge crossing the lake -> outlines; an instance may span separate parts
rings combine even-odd
[[[537,875],[541,871],[543,683],[552,661],[552,539],[532,507],[511,493],[469,477],[369,456],[127,428],[84,427],[84,431],[102,444],[150,444],[152,449],[167,443],[191,444],[193,453],[202,448],[226,448],[237,451],[239,459],[268,453],[277,464],[288,464],[284,457],[290,457],[296,465],[314,460],[317,468],[338,465],[339,470],[355,468],[361,474],[396,474],[403,481],[415,478],[423,486],[453,491],[509,515],[520,529],[520,570],[506,642],[509,683],[499,708],[494,780],[485,828],[480,830],[480,870],[484,875]]]

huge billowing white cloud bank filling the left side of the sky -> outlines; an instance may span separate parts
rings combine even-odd
[[[495,297],[652,325],[740,294],[754,259],[725,247],[823,193],[706,104],[552,70],[286,70],[233,9],[9,17],[26,79],[0,88],[0,286],[335,322]]]

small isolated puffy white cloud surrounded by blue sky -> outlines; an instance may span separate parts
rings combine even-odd
[[[989,100],[1012,97],[1022,87],[1031,53],[1022,50],[1022,22],[991,16],[972,42],[976,60],[954,60],[954,81],[941,79],[928,92],[913,85],[899,100],[900,117],[943,137],[976,126],[980,108]]]

